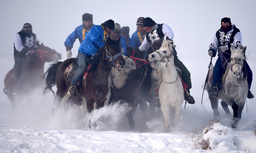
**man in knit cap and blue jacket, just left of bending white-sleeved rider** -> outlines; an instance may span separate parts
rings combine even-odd
[[[143,27],[144,17],[139,17],[136,22],[137,30],[132,34],[131,43],[129,46],[133,47],[134,50],[138,50],[138,47],[142,44],[146,37],[147,31]]]

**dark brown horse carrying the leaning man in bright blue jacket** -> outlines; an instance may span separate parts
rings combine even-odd
[[[112,66],[117,67],[119,70],[122,70],[125,66],[125,61],[121,54],[120,40],[114,41],[108,38],[103,48],[99,49],[97,54],[98,56],[91,62],[91,67],[88,70],[86,79],[83,80],[83,78],[81,78],[79,80],[76,96],[71,96],[68,101],[65,102],[71,105],[79,104],[76,102],[79,102],[80,98],[84,97],[89,113],[94,109],[95,103],[96,109],[104,105],[109,91],[108,77]],[[67,75],[64,74],[64,72],[67,66],[75,60],[76,58],[69,58],[63,63],[59,63],[60,66],[57,68],[55,76],[57,91],[53,109],[59,107],[63,98],[69,94],[68,89],[71,84],[67,81]]]

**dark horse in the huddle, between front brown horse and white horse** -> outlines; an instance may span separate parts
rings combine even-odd
[[[156,99],[150,93],[150,89],[152,87],[152,80],[150,76],[152,67],[148,63],[148,54],[152,53],[153,50],[150,48],[148,52],[144,52],[127,48],[127,52],[136,63],[137,69],[132,70],[129,73],[126,84],[121,89],[111,89],[111,93],[115,94],[111,95],[110,102],[122,100],[125,103],[128,103],[132,109],[126,116],[130,127],[134,129],[133,113],[135,112],[138,104],[139,108],[145,115],[148,110],[147,102],[149,102],[150,115],[154,116],[156,110],[154,105]],[[146,121],[146,119],[144,121]]]

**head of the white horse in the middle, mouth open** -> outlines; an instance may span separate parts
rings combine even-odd
[[[162,46],[159,50],[148,55],[148,61],[153,68],[158,67],[160,62],[173,62],[173,42],[171,40],[166,40],[162,43]]]

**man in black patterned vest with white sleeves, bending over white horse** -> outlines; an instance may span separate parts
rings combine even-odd
[[[154,48],[159,49],[161,46],[161,41],[164,39],[164,37],[168,37],[168,39],[173,40],[174,34],[171,30],[171,28],[164,24],[157,24],[152,18],[146,17],[143,20],[143,26],[144,29],[148,32],[146,34],[146,39],[142,42],[141,46],[139,46],[139,50],[141,51],[147,51],[150,47],[150,45],[153,45]],[[191,79],[190,79],[190,72],[187,69],[187,67],[184,66],[184,64],[178,59],[177,52],[174,50],[174,64],[180,68],[181,70],[181,78],[184,81],[185,84],[188,85],[188,92],[189,89],[192,88]],[[184,99],[188,101],[190,104],[194,104],[194,98],[187,93],[184,92]]]

